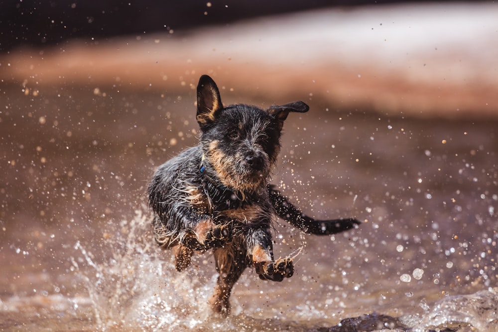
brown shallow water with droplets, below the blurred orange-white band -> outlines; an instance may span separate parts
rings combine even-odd
[[[1,93],[2,331],[494,331],[496,121],[308,101],[287,119],[273,182],[309,215],[365,222],[325,237],[278,222],[276,256],[304,248],[295,275],[247,270],[217,320],[211,256],[176,272],[145,206],[154,168],[196,143],[194,93]],[[261,105],[227,93],[236,101]]]

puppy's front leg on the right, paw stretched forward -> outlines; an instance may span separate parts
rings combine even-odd
[[[292,258],[273,259],[273,245],[268,228],[251,229],[246,243],[256,273],[262,280],[282,281],[294,274]]]

